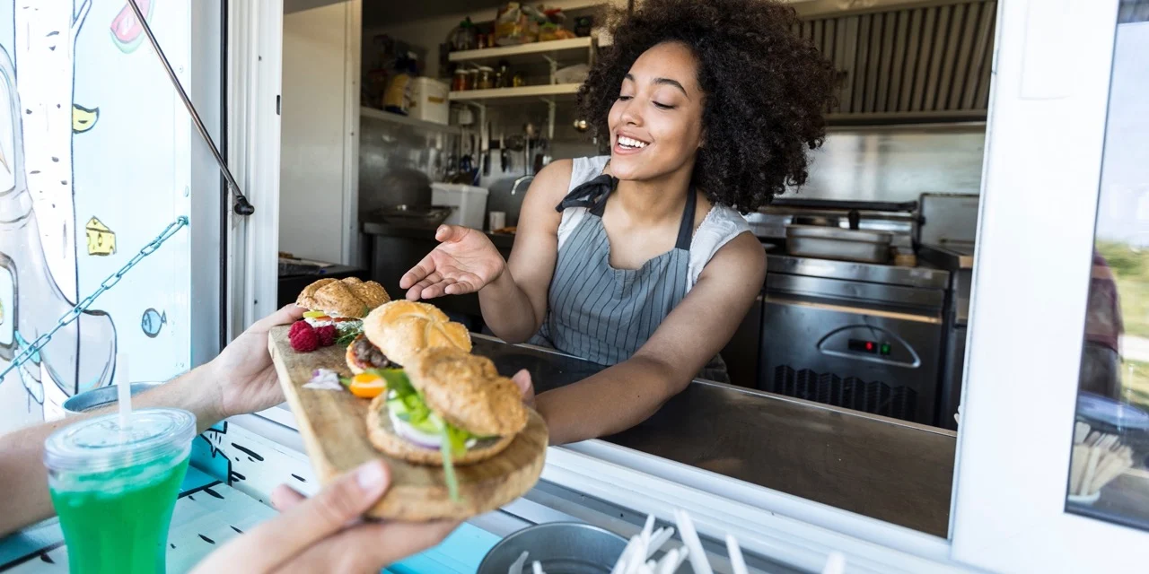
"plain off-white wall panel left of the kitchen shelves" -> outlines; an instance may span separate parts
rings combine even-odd
[[[355,225],[355,210],[347,209],[354,197],[347,194],[356,192],[348,180],[354,170],[345,165],[357,153],[358,71],[347,64],[358,55],[353,11],[360,7],[338,2],[284,16],[279,250],[298,257],[352,261],[344,231]],[[352,101],[356,109],[349,109]]]

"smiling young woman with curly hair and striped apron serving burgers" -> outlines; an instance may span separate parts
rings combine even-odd
[[[718,351],[762,289],[749,212],[807,178],[833,69],[765,0],[646,0],[611,25],[579,92],[610,155],[557,161],[531,184],[510,261],[444,226],[401,286],[411,300],[478,292],[508,342],[607,365],[541,394],[556,444],[641,422]]]

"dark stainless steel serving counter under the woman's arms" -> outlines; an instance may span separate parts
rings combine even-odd
[[[537,393],[602,367],[476,336]],[[946,536],[956,434],[757,390],[694,381],[654,417],[604,440],[928,534]]]

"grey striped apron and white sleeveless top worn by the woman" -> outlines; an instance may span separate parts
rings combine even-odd
[[[615,269],[602,225],[607,200],[617,185],[602,173],[608,160],[573,161],[570,191],[556,207],[562,222],[547,317],[531,343],[609,366],[629,359],[650,339],[715,253],[749,225],[733,209],[714,205],[695,232],[697,194],[692,187],[674,248],[639,269]],[[699,377],[730,382],[725,371],[716,356]]]

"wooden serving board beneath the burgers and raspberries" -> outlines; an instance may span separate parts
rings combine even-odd
[[[290,326],[272,327],[268,348],[319,482],[326,484],[373,458],[384,459],[391,468],[391,488],[368,511],[368,517],[463,520],[498,510],[538,482],[547,452],[547,426],[537,412],[529,410],[526,428],[506,450],[481,463],[455,466],[460,501],[452,501],[441,466],[415,465],[376,450],[367,434],[370,401],[347,390],[303,388],[316,369],[349,377],[347,349],[336,344],[313,352],[295,352],[287,342],[288,329]]]

